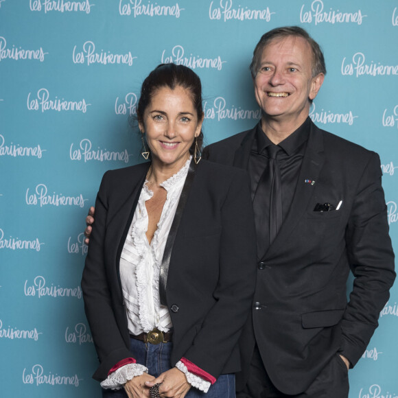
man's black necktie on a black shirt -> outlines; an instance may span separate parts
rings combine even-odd
[[[281,148],[274,144],[266,148],[268,167],[261,175],[253,200],[259,257],[264,255],[268,245],[274,242],[282,225],[282,184],[277,163],[280,150]]]

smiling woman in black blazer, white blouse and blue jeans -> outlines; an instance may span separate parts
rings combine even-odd
[[[137,117],[150,162],[104,174],[82,277],[93,377],[104,397],[235,397],[255,288],[248,177],[200,161],[191,69],[154,69]]]

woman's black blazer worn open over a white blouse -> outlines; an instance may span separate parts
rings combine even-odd
[[[100,366],[128,347],[119,259],[149,163],[104,174],[82,278],[86,316]],[[200,161],[176,233],[167,278],[174,327],[172,366],[185,357],[217,378],[240,368],[237,341],[255,290],[255,227],[250,182],[241,169]]]

